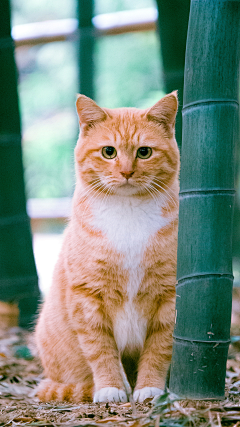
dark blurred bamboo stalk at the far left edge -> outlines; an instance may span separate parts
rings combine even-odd
[[[17,301],[30,326],[39,297],[23,180],[21,129],[9,0],[0,2],[0,300]]]

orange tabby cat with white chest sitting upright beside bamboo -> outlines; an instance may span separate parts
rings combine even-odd
[[[126,377],[136,402],[163,393],[175,312],[177,103],[172,92],[146,110],[106,109],[78,96],[72,216],[36,326],[42,401],[126,402]]]

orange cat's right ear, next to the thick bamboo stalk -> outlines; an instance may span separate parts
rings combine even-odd
[[[147,119],[173,128],[178,108],[177,91],[169,93],[160,99],[153,107],[147,110]]]

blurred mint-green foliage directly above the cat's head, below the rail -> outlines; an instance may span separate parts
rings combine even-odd
[[[109,36],[96,42],[96,100],[109,108],[150,106],[162,96],[156,34]]]

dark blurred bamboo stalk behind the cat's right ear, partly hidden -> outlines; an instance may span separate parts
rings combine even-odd
[[[190,0],[157,0],[163,79],[166,92],[178,89],[176,140],[182,143],[184,63]]]

